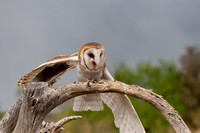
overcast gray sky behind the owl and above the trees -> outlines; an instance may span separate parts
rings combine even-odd
[[[1,0],[1,109],[16,101],[20,77],[87,42],[105,46],[110,68],[177,61],[185,46],[200,44],[199,13],[199,0]],[[71,72],[60,83],[75,77]]]

